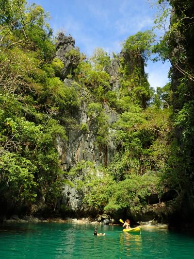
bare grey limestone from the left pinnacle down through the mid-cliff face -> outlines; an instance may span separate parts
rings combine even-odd
[[[76,64],[72,59],[66,58],[66,53],[72,50],[75,46],[75,41],[71,36],[60,34],[56,45],[56,57],[64,62],[64,76],[70,73],[72,69],[76,68]],[[75,48],[79,50],[78,48]],[[73,72],[73,71],[72,71]],[[76,88],[73,80],[65,78],[64,84]],[[80,91],[76,88],[79,95],[80,107],[74,109],[69,116],[75,119],[78,125],[87,123],[88,130],[82,131],[80,127],[71,128],[67,131],[68,141],[57,139],[57,149],[61,158],[61,164],[64,171],[69,171],[79,161],[92,161],[96,165],[107,165],[112,161],[114,151],[116,149],[116,142],[110,138],[107,146],[99,146],[96,144],[96,128],[90,123],[90,118],[87,116],[87,93],[84,89]],[[116,112],[111,109],[106,103],[103,104],[104,112],[108,115],[108,122],[111,125],[117,120]]]

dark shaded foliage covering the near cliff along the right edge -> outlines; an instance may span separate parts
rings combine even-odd
[[[170,5],[166,4],[169,3]],[[168,159],[164,165],[162,182],[178,194],[178,210],[184,209],[187,215],[193,215],[193,112],[194,112],[194,52],[193,52],[193,9],[192,0],[160,0],[162,12],[156,19],[156,27],[162,29],[163,35],[155,46],[159,58],[170,60],[172,69],[171,85],[158,89],[155,105],[172,105],[171,120],[174,122]],[[171,12],[171,9],[173,12]],[[170,16],[170,24],[164,28]],[[168,23],[167,23],[168,24]],[[164,92],[163,92],[164,90]],[[186,198],[187,197],[187,198]]]

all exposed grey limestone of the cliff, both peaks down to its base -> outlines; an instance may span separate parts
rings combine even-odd
[[[64,77],[68,73],[73,74],[73,68],[76,68],[76,64],[73,63],[67,53],[75,47],[75,41],[71,36],[59,35],[59,42],[56,45],[57,57],[64,63]],[[120,78],[119,69],[121,67],[120,60],[123,58],[125,64],[128,65],[129,74],[133,73],[133,70],[138,66],[142,75],[144,75],[144,61],[141,56],[132,56],[132,52],[120,53],[111,60],[111,64],[106,68],[106,71],[110,75],[110,86],[112,90],[119,95]],[[75,87],[78,98],[80,100],[80,106],[72,110],[68,116],[76,121],[75,127],[67,129],[68,140],[57,138],[57,149],[61,159],[61,166],[65,172],[69,172],[81,161],[93,162],[94,167],[108,166],[112,161],[115,151],[119,148],[119,142],[114,138],[114,129],[112,125],[118,119],[118,113],[110,108],[110,106],[104,101],[102,106],[104,113],[108,117],[108,131],[109,140],[107,144],[97,144],[97,126],[96,123],[91,121],[91,118],[87,114],[88,110],[88,92],[83,87],[80,89],[76,82],[72,79],[64,79],[64,84],[69,87]],[[81,125],[87,125],[86,130],[81,129]],[[84,190],[77,190],[76,182],[83,180],[87,170],[78,170],[74,175],[67,175],[67,180],[74,183],[74,186],[69,184],[63,187],[63,197],[60,204],[65,206],[66,212],[69,211],[70,215],[91,215],[89,208],[84,207],[82,200],[84,198]],[[154,217],[154,213],[152,214]]]

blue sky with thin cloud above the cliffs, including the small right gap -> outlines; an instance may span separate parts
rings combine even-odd
[[[147,0],[29,0],[50,13],[54,32],[63,30],[75,38],[81,52],[91,55],[95,48],[120,52],[121,42],[138,31],[151,29],[156,9]],[[170,64],[148,62],[151,86],[168,82]]]

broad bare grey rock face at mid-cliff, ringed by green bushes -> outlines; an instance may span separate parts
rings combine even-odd
[[[72,112],[72,117],[77,121],[78,127],[67,131],[68,141],[57,138],[57,149],[61,158],[61,165],[64,171],[69,171],[79,161],[91,161],[96,166],[109,164],[113,160],[117,142],[112,137],[113,129],[111,125],[117,120],[117,114],[104,104],[104,112],[108,115],[110,124],[108,145],[99,145],[96,141],[96,126],[91,123],[87,116],[87,97],[84,91],[81,93],[82,101],[80,107]],[[87,125],[88,129],[81,130],[82,125]]]

